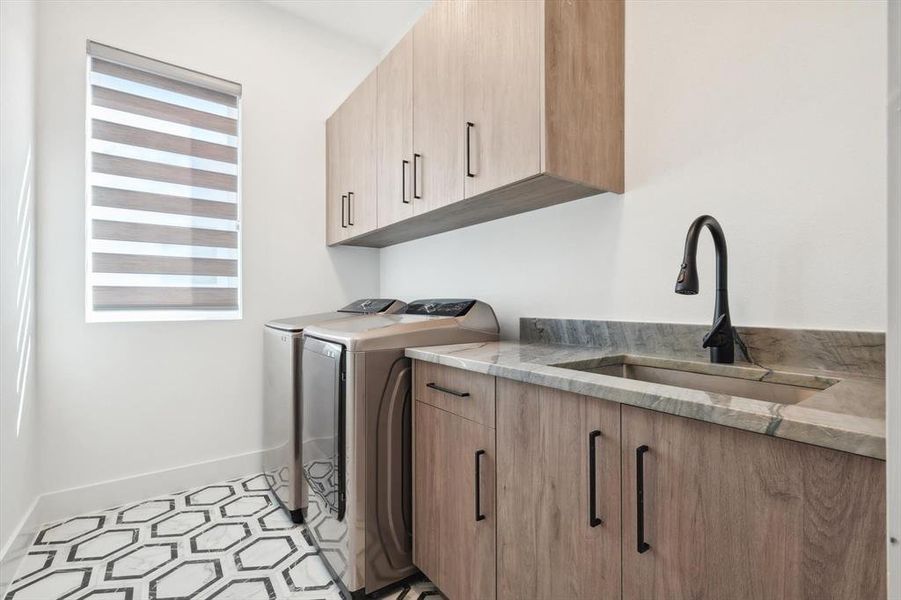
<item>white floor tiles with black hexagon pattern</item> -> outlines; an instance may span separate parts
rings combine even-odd
[[[394,600],[440,598],[427,580]],[[264,475],[40,528],[4,600],[340,599]]]

